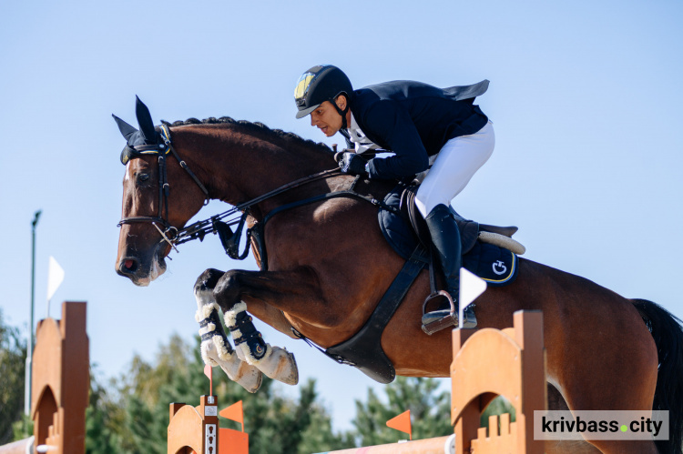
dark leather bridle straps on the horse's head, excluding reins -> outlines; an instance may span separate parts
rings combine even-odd
[[[136,216],[136,217],[124,217],[122,218],[117,227],[122,227],[125,224],[134,224],[138,222],[149,222],[154,226],[161,237],[170,245],[176,249],[174,242],[178,238],[178,228],[173,227],[168,222],[168,196],[170,193],[170,185],[168,184],[168,175],[166,167],[166,157],[168,153],[178,159],[178,163],[182,168],[184,168],[189,176],[197,183],[201,192],[204,193],[204,205],[209,203],[209,191],[204,185],[201,184],[199,178],[189,169],[185,161],[180,159],[178,152],[171,145],[170,133],[168,131],[168,126],[161,126],[161,134],[158,134],[158,143],[156,145],[142,145],[142,146],[126,146],[128,154],[131,157],[142,156],[142,155],[157,155],[158,156],[158,214],[156,217],[153,216]],[[164,217],[164,211],[166,211],[166,217]],[[161,227],[164,229],[162,230]],[[178,251],[178,249],[176,249]]]

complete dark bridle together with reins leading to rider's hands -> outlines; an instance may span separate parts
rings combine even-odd
[[[229,257],[234,259],[242,260],[249,254],[249,238],[247,244],[244,247],[244,251],[240,254],[240,237],[242,230],[244,228],[247,217],[249,216],[250,207],[259,204],[260,202],[277,196],[283,192],[286,192],[294,187],[300,187],[306,183],[329,177],[333,174],[339,173],[340,169],[332,168],[330,170],[324,170],[317,174],[311,175],[309,177],[303,177],[298,180],[292,181],[284,186],[273,189],[272,191],[260,196],[253,198],[247,202],[241,203],[235,207],[230,208],[223,213],[209,217],[187,227],[178,229],[173,227],[168,222],[168,196],[170,190],[170,184],[168,183],[167,175],[167,155],[170,153],[178,159],[178,164],[188,172],[189,177],[199,186],[199,189],[204,193],[204,205],[209,204],[209,191],[206,187],[199,181],[199,178],[189,169],[189,166],[185,161],[183,161],[178,152],[171,144],[170,132],[167,125],[161,125],[161,132],[158,133],[158,141],[156,145],[138,145],[138,146],[128,146],[124,148],[123,155],[127,155],[128,159],[135,157],[146,156],[146,155],[157,155],[158,156],[158,213],[157,216],[136,216],[136,217],[123,217],[117,224],[117,227],[122,227],[126,224],[134,224],[138,222],[148,222],[154,226],[159,235],[166,241],[170,247],[178,252],[176,245],[187,243],[193,239],[198,239],[202,241],[208,233],[218,234],[220,241],[223,244]],[[224,218],[233,216],[240,212],[239,217],[234,217],[229,221],[223,221]],[[166,216],[164,216],[166,214]],[[230,226],[237,224],[238,227],[233,233]],[[159,227],[161,226],[161,227]],[[162,229],[163,227],[163,229]],[[249,236],[250,231],[247,230],[247,235]]]

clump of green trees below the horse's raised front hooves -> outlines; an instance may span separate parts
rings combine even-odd
[[[159,347],[152,362],[136,356],[130,370],[110,384],[93,385],[88,411],[88,452],[164,453],[167,444],[168,405],[184,402],[196,406],[209,394],[202,373],[199,338],[191,348],[173,336]],[[300,385],[299,399],[281,395],[274,382],[264,378],[260,390],[250,394],[215,368],[213,393],[219,409],[242,400],[244,425],[250,434],[250,454],[299,454],[352,447],[352,439],[331,430],[315,382]],[[234,421],[220,419],[220,427],[240,429]],[[97,449],[103,446],[104,449]],[[110,448],[111,447],[111,448]]]

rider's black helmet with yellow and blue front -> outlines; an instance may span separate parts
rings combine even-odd
[[[342,93],[349,96],[352,92],[349,77],[337,66],[313,66],[299,77],[294,89],[294,100],[299,108],[297,118],[309,115],[325,101],[334,105],[334,98]]]

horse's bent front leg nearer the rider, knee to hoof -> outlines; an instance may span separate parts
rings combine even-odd
[[[242,291],[232,278],[234,275],[235,271],[222,273],[207,269],[198,282],[203,281],[205,286],[210,287],[216,282],[216,276],[221,276],[213,286],[213,297],[223,310],[225,323],[240,356],[268,377],[296,385],[299,382],[299,370],[294,355],[263,340],[247,313],[247,304],[241,300]]]

